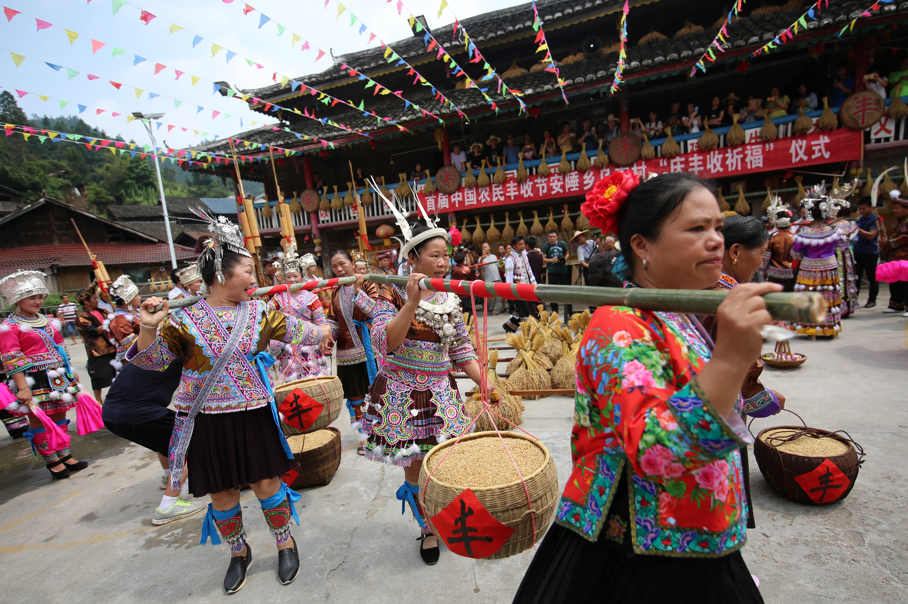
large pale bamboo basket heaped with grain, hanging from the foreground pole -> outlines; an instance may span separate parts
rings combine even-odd
[[[507,451],[502,438],[508,445]],[[520,469],[519,475],[514,463]],[[482,526],[481,519],[488,515],[491,518],[485,526],[495,523],[508,534],[507,539],[494,544],[494,551],[489,550],[488,543],[474,544],[476,548],[485,547],[486,551],[471,557],[488,560],[508,558],[538,543],[548,530],[559,494],[558,472],[548,449],[532,436],[513,432],[502,432],[500,436],[495,432],[477,432],[459,441],[451,439],[439,444],[423,460],[419,486],[419,501],[429,526],[449,550],[469,555],[469,549],[468,553],[462,552],[465,545],[462,541],[468,536],[470,540],[482,540],[484,531],[472,528],[468,531],[466,524]],[[478,502],[463,508],[469,511],[462,514],[460,525],[455,524],[460,528],[452,531],[449,525],[442,524],[444,512],[450,504],[457,504],[455,500],[461,500],[463,505],[468,496]],[[458,538],[458,531],[468,534]]]

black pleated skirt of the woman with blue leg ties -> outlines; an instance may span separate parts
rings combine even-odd
[[[196,415],[186,451],[192,496],[239,489],[290,470],[293,460],[283,451],[280,430],[267,405]]]

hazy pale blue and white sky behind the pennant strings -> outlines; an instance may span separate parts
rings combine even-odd
[[[243,15],[247,5],[242,0],[138,0],[134,4],[123,0],[4,0],[5,8],[22,14],[11,21],[0,17],[0,86],[16,96],[28,115],[76,114],[77,105],[85,105],[81,113],[85,122],[127,141],[148,142],[141,123],[127,123],[126,115],[163,112],[162,122],[174,128],[171,132],[166,125],[160,128],[155,133],[158,143],[167,141],[173,148],[192,146],[202,140],[203,132],[212,139],[215,134],[224,137],[248,130],[253,121],[266,122],[261,113],[246,109],[246,103],[213,94],[212,82],[255,88],[270,84],[275,72],[288,77],[321,72],[331,66],[331,57],[325,55],[316,63],[316,47],[340,55],[378,47],[378,39],[368,44],[370,32],[386,43],[411,36],[408,9],[414,15],[425,15],[429,27],[454,20],[449,8],[439,18],[440,0],[407,0],[403,16],[398,15],[397,1],[346,0],[343,5],[349,10],[338,18],[337,0],[328,0],[327,8],[325,0],[254,0],[251,6],[256,10],[248,15]],[[524,3],[458,0],[451,4],[464,19]],[[114,15],[116,5],[120,8]],[[141,19],[142,10],[154,15],[148,24]],[[350,11],[362,21],[350,26]],[[259,28],[262,14],[271,21]],[[44,22],[40,30],[35,18]],[[360,34],[363,22],[369,29]],[[277,24],[286,28],[280,36]],[[171,33],[172,25],[183,29]],[[79,34],[73,43],[73,34],[65,30]],[[301,41],[291,44],[292,34],[298,34]],[[196,36],[202,40],[193,48]],[[94,53],[97,44],[93,40],[104,43]],[[305,41],[311,50],[301,51]],[[224,50],[212,57],[212,44]],[[114,49],[123,53],[117,51],[113,56]],[[229,63],[228,50],[236,54]],[[10,53],[26,58],[16,67]],[[145,61],[136,63],[136,55]],[[262,68],[250,66],[246,59]],[[61,69],[54,70],[45,62]],[[174,70],[184,73],[179,80]],[[97,79],[89,80],[89,74]],[[199,78],[194,85],[192,75]],[[280,78],[278,75],[279,82]],[[110,81],[122,85],[117,89]],[[143,91],[139,98],[135,88]],[[16,90],[31,94],[20,99]],[[160,96],[149,98],[150,93]],[[37,95],[51,98],[44,101]],[[61,109],[60,100],[70,104]],[[181,101],[179,106],[175,100]],[[200,106],[204,109],[199,110]],[[98,113],[99,109],[105,111]],[[114,117],[112,112],[121,115]],[[212,112],[220,114],[212,119]],[[232,115],[229,119],[224,117],[228,113]],[[193,130],[199,131],[198,136]]]

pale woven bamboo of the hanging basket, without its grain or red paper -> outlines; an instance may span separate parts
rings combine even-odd
[[[498,438],[498,434],[495,432],[476,432],[461,438],[460,443],[483,436]],[[472,489],[476,498],[482,503],[482,507],[489,511],[489,514],[502,524],[514,529],[514,532],[508,537],[508,541],[505,541],[501,549],[489,556],[487,560],[500,560],[514,556],[521,551],[528,550],[541,541],[546,531],[548,531],[552,516],[555,514],[555,507],[558,504],[558,495],[560,494],[558,490],[558,471],[545,445],[527,434],[502,432],[501,436],[506,439],[521,438],[534,443],[542,449],[546,457],[535,472],[524,476],[524,482],[527,485],[526,491],[524,491],[520,481]],[[469,484],[454,485],[441,482],[434,476],[429,476],[427,468],[431,469],[438,463],[433,460],[440,460],[446,453],[446,449],[453,446],[454,443],[456,443],[456,439],[450,439],[434,447],[426,455],[422,462],[422,469],[419,471],[419,485],[422,487],[419,491],[419,500],[426,511],[430,526],[431,517],[442,511],[450,502],[454,501],[454,498],[469,487]],[[477,460],[477,463],[481,463],[481,461]],[[529,492],[529,501],[532,502],[532,511],[527,504],[527,492]],[[533,533],[534,514],[536,517],[535,534]],[[438,533],[436,532],[436,534]]]

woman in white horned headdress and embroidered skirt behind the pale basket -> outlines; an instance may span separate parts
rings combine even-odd
[[[430,219],[407,222],[407,209],[385,199],[405,242],[400,255],[413,266],[407,286],[383,285],[375,303],[372,337],[380,372],[366,397],[362,431],[366,458],[403,468],[397,498],[410,503],[419,523],[419,556],[439,560],[438,539],[419,504],[419,470],[435,445],[466,434],[473,424],[451,375],[463,370],[477,385],[481,372],[469,341],[460,298],[419,288],[421,278],[444,278],[449,269],[450,233]]]

